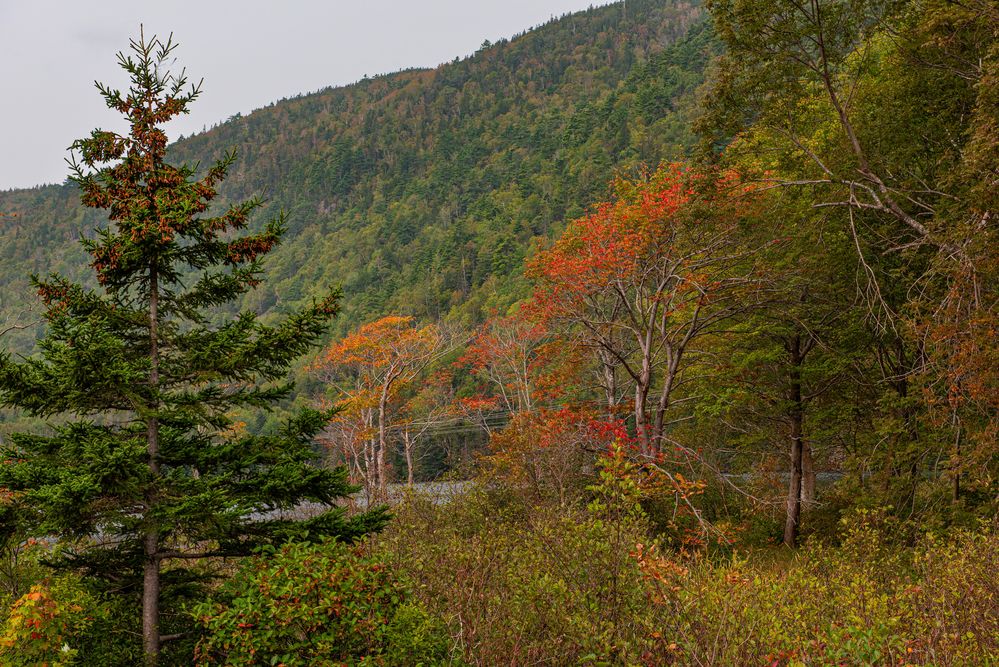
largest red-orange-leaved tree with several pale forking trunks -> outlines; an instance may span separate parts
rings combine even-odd
[[[531,261],[532,309],[594,351],[612,411],[632,390],[639,449],[656,457],[700,343],[762,298],[740,234],[753,205],[731,174],[679,164],[615,190]]]

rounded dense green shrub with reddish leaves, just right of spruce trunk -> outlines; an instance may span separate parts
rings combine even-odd
[[[363,547],[288,544],[250,559],[224,602],[193,612],[199,665],[418,665],[444,662],[443,635],[405,584]]]

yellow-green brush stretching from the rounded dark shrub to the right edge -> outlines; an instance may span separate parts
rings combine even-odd
[[[588,509],[412,495],[374,544],[475,665],[999,664],[994,526],[905,547],[860,511],[839,544],[719,561],[651,539],[634,488],[592,490]]]

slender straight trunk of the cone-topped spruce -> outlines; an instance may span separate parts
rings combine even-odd
[[[146,492],[147,526],[143,539],[145,563],[142,571],[142,648],[147,667],[155,667],[160,653],[160,558],[159,529],[151,523],[149,515],[156,504],[155,485],[160,475],[159,449],[160,427],[155,411],[159,409],[159,283],[156,267],[149,270],[149,390],[152,401],[149,409],[154,411],[146,420],[146,453],[151,488]]]

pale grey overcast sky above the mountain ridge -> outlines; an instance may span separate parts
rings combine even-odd
[[[93,88],[126,80],[115,53],[173,32],[178,65],[204,78],[171,137],[283,97],[473,53],[606,0],[0,0],[0,190],[62,182],[66,148],[117,129]]]

